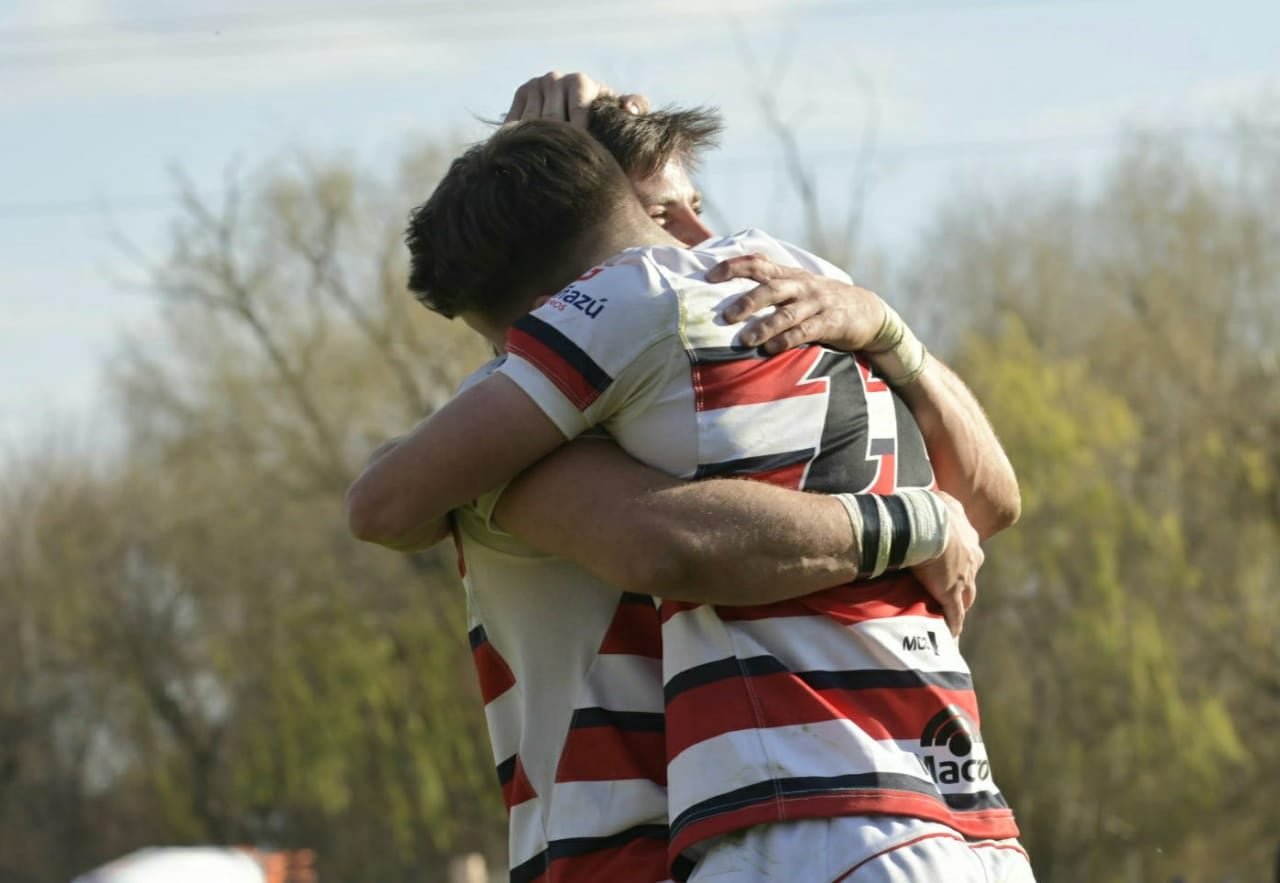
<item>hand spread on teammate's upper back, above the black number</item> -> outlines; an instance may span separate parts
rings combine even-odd
[[[763,255],[722,261],[707,279],[760,283],[726,307],[724,320],[736,322],[755,316],[746,321],[740,339],[749,347],[763,347],[767,353],[806,343],[856,352],[870,343],[884,321],[884,306],[876,293],[808,270],[780,266]],[[776,307],[772,314],[755,315],[771,306]]]

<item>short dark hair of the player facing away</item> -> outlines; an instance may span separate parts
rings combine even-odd
[[[590,232],[634,200],[617,161],[568,123],[498,129],[458,159],[410,215],[408,287],[445,316],[506,320],[588,269]]]

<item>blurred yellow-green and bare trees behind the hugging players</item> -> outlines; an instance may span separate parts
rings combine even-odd
[[[957,192],[868,279],[1020,475],[965,649],[1042,883],[1270,879],[1274,122],[1123,145],[1088,192]],[[5,463],[0,875],[182,842],[311,847],[326,883],[503,866],[452,549],[364,548],[342,517],[367,453],[485,357],[404,289],[406,211],[451,155],[180,188],[169,253],[136,256],[161,329],[110,369],[124,444]]]

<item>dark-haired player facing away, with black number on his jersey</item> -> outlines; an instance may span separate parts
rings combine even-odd
[[[410,239],[417,248],[419,289],[443,311],[456,308],[460,302],[449,298],[461,296],[467,320],[495,340],[535,301],[545,299],[545,292],[561,289],[571,279],[570,267],[605,266],[516,321],[507,339],[513,354],[498,372],[426,421],[357,481],[353,511],[393,513],[378,530],[366,525],[366,536],[387,541],[421,532],[424,523],[593,422],[605,425],[631,453],[680,475],[736,473],[823,490],[850,482],[874,488],[886,476],[890,488],[893,479],[932,482],[923,444],[911,434],[914,424],[901,420],[897,399],[865,361],[819,348],[758,358],[753,348],[740,346],[740,329],[722,319],[726,298],[741,285],[716,292],[705,283],[719,259],[745,251],[840,278],[835,267],[759,233],[694,252],[676,247],[630,200],[626,178],[608,155],[571,132],[526,124],[498,133],[451,169],[415,218]],[[486,237],[497,248],[490,252],[495,261],[475,260]],[[632,251],[611,259],[626,248]],[[471,260],[463,260],[465,253]],[[512,279],[503,255],[530,273]],[[495,293],[497,299],[486,299]],[[613,314],[608,321],[605,303]],[[598,326],[586,324],[596,320]],[[879,351],[877,367],[897,385],[918,380],[927,365],[923,349],[891,311],[882,312],[877,334],[861,343],[849,348]],[[850,407],[860,408],[861,436],[846,431],[846,418],[858,416]],[[786,422],[771,427],[771,416]],[[504,431],[512,427],[518,435]],[[795,447],[805,442],[808,447]],[[707,459],[713,454],[741,456]],[[387,459],[396,466],[379,468]],[[388,485],[394,473],[404,475],[410,486]],[[370,500],[376,502],[372,509]],[[868,513],[864,505],[850,508],[852,525],[865,523],[858,521]],[[399,526],[388,530],[397,520]],[[675,868],[687,870],[696,863],[698,878],[741,873],[732,863],[750,857],[751,850],[723,836],[742,828],[751,832],[749,843],[759,841],[777,859],[827,863],[814,879],[855,868],[858,879],[876,879],[895,863],[918,860],[943,863],[947,879],[957,880],[970,871],[955,863],[970,860],[974,879],[986,879],[974,846],[989,847],[989,856],[1021,855],[1009,842],[1016,833],[1011,814],[986,772],[966,669],[950,635],[942,630],[940,639],[927,628],[940,617],[925,601],[916,582],[897,580],[745,614],[664,604]],[[776,628],[780,623],[786,627]],[[748,644],[765,653],[745,658]],[[922,678],[924,664],[904,656],[931,648],[934,656],[946,658],[938,663],[943,668],[932,669],[938,677]],[[868,655],[868,649],[882,655]],[[710,659],[717,654],[723,658]],[[788,655],[791,662],[783,662]],[[859,668],[815,668],[823,659]],[[753,660],[767,662],[753,668]],[[856,703],[841,696],[868,681],[850,676],[868,673],[884,695],[854,690]],[[815,674],[829,677],[814,682]],[[676,683],[681,690],[673,690]],[[859,708],[865,701],[882,708],[868,713]],[[722,714],[698,714],[699,705]],[[919,719],[934,706],[928,720]],[[905,733],[922,723],[922,749],[936,742],[955,756],[973,756],[959,764],[900,745],[911,741]],[[947,782],[943,773],[936,782],[940,764],[963,767],[966,781]],[[822,770],[840,774],[818,776]],[[942,783],[955,787],[943,796]],[[783,819],[826,820],[826,827]],[[844,827],[833,829],[837,823]],[[773,843],[778,837],[781,846]],[[805,839],[812,837],[827,848],[815,852]],[[783,861],[776,877],[762,879],[796,879],[810,868]]]

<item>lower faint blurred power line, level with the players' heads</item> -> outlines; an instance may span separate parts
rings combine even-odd
[[[872,156],[876,164],[888,161],[913,163],[920,160],[952,159],[964,155],[1007,156],[1010,154],[1043,154],[1064,150],[1082,150],[1115,145],[1123,133],[1089,133],[1079,136],[1039,136],[1019,138],[983,138],[974,141],[933,141],[887,146],[878,148]],[[1225,127],[1170,127],[1161,129],[1140,129],[1130,133],[1134,137],[1178,138],[1210,141],[1229,138],[1235,132]],[[832,165],[852,160],[852,150],[819,150],[803,154],[801,160],[815,165]],[[728,155],[712,160],[708,165],[735,168],[749,164],[764,164],[778,159],[777,154]],[[38,219],[76,215],[140,214],[148,211],[168,211],[177,203],[174,196],[137,195],[119,198],[100,200],[49,200],[28,202],[0,202],[0,219]]]

